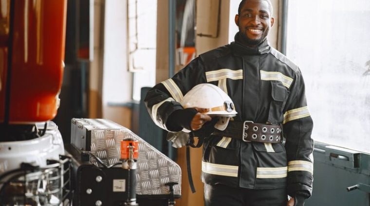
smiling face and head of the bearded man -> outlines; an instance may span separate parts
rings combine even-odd
[[[271,17],[267,1],[247,0],[240,9],[240,15],[235,16],[235,23],[243,43],[256,47],[266,38],[274,18]]]

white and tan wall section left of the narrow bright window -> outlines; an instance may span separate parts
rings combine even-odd
[[[131,109],[114,105],[132,97],[127,62],[127,2],[94,0],[94,58],[90,67],[89,118],[131,127]]]

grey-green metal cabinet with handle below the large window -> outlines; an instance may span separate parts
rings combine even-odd
[[[314,189],[305,206],[370,206],[369,176],[370,154],[315,142]]]

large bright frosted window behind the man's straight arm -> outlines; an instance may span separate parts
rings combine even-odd
[[[289,1],[286,54],[305,78],[314,140],[370,153],[370,1]]]

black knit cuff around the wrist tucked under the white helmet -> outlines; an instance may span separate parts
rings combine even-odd
[[[169,131],[178,132],[183,128],[190,130],[190,123],[198,111],[194,108],[178,109],[173,111],[166,121],[166,127]]]

